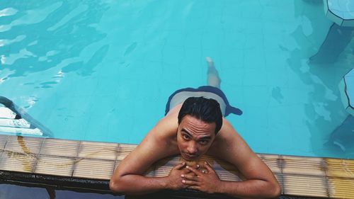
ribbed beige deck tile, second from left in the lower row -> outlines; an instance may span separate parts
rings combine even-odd
[[[72,176],[74,158],[40,156],[35,166],[35,174]]]

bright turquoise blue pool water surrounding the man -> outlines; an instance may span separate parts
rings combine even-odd
[[[57,138],[137,144],[212,57],[255,152],[354,158],[338,90],[354,40],[322,45],[332,25],[321,0],[3,0],[0,96]]]

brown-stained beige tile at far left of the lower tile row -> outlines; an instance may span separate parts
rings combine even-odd
[[[2,152],[0,154],[0,170],[30,173],[33,171],[36,159],[34,154]]]

